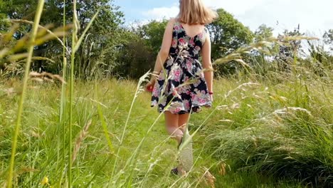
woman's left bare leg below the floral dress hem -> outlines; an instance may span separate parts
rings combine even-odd
[[[179,130],[178,114],[172,114],[169,111],[164,113],[166,130],[172,138],[177,140],[178,144],[181,142],[181,137],[183,137],[183,132]]]

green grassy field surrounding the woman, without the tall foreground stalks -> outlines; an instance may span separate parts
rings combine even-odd
[[[198,131],[194,168],[176,177],[169,174],[176,142],[149,107],[149,93],[136,93],[137,83],[129,80],[75,83],[73,187],[330,187],[332,89],[331,79],[306,75],[216,80],[213,108],[191,117],[191,132]],[[20,90],[17,80],[0,84],[0,187]],[[60,95],[57,83],[29,81],[15,187],[65,187],[68,181],[69,117],[63,108],[60,120]]]

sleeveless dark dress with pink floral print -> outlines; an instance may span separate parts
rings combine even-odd
[[[173,114],[196,113],[201,106],[211,107],[207,83],[199,54],[207,28],[194,37],[186,34],[181,23],[174,23],[173,40],[162,71],[152,91],[152,107],[158,105]]]

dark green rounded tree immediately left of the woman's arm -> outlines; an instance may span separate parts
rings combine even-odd
[[[119,48],[113,75],[139,78],[152,69],[162,45],[167,22],[150,21],[129,29],[127,40]]]

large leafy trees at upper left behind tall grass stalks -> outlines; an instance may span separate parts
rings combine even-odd
[[[93,22],[93,26],[88,31],[83,45],[78,49],[75,65],[78,66],[77,70],[83,75],[90,75],[93,68],[98,66],[110,66],[114,63],[115,51],[117,46],[122,41],[123,29],[120,25],[123,23],[123,14],[119,11],[118,6],[112,4],[113,0],[78,0],[77,13],[78,21],[80,23],[80,35],[94,14],[97,14],[97,19]],[[35,0],[12,0],[3,3],[0,1],[0,12],[4,14],[7,19],[24,19],[32,21],[35,14],[35,7],[37,1]],[[63,4],[63,0],[46,0],[41,24],[46,25],[52,23],[53,27],[63,25],[63,7],[65,6],[66,23],[73,22],[73,3],[70,0]],[[2,24],[1,24],[2,26]],[[25,33],[31,30],[28,24],[21,24],[20,30],[14,34],[14,40],[22,38]],[[67,44],[70,48],[70,37]],[[107,52],[105,52],[107,51]],[[36,70],[43,68],[45,71],[58,72],[57,68],[61,68],[62,46],[58,41],[49,41],[43,46],[36,46],[38,56],[46,56],[53,60],[58,60],[56,64],[46,64],[43,61],[33,63],[33,68]],[[103,54],[103,56],[101,56]],[[102,62],[100,62],[102,61]],[[95,62],[100,62],[98,65]]]

